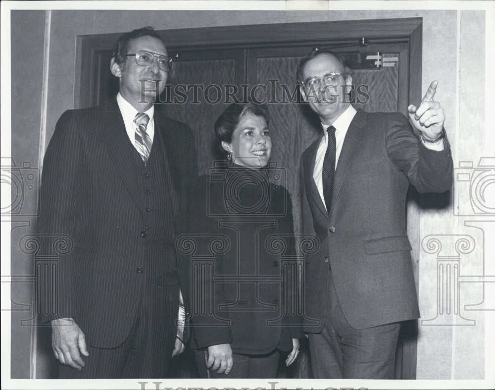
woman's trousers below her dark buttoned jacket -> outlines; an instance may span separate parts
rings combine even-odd
[[[206,368],[208,352],[194,352],[201,378],[276,378],[280,352],[275,350],[267,355],[239,355],[233,353],[234,365],[228,375],[218,374]]]

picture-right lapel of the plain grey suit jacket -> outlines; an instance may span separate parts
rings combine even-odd
[[[335,206],[337,197],[339,196],[342,183],[347,174],[347,169],[353,160],[354,153],[356,152],[359,143],[363,137],[362,128],[366,125],[366,112],[362,110],[357,110],[354,118],[350,122],[349,128],[347,129],[346,138],[344,139],[344,144],[342,145],[342,151],[337,162],[337,169],[335,171],[334,178],[334,189],[332,193],[332,209]],[[332,210],[330,210],[330,213]]]

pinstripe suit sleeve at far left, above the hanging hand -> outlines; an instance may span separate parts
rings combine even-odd
[[[53,254],[54,242],[73,245],[72,234],[77,218],[77,192],[81,183],[81,143],[75,116],[66,111],[58,120],[43,164],[40,187],[40,215],[37,232],[40,250]],[[40,320],[75,317],[72,307],[69,256],[59,255],[53,279],[40,278],[37,299],[42,303]],[[55,299],[44,299],[54,293]]]

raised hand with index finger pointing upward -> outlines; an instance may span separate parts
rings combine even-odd
[[[433,100],[437,85],[438,81],[433,80],[425,96],[421,99],[419,108],[414,105],[407,108],[411,125],[421,131],[423,137],[430,140],[438,138],[445,122],[444,110],[440,107],[439,102]]]

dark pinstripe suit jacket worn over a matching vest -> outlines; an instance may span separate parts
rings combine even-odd
[[[179,235],[187,228],[188,196],[198,176],[195,143],[186,124],[158,111],[154,121],[155,139],[162,140],[164,150],[160,158],[165,177],[159,186],[169,197]],[[129,148],[133,146],[113,99],[64,112],[44,160],[38,233],[67,235],[73,248],[59,257],[53,285],[42,286],[56,289],[56,302],[44,308],[41,321],[74,317],[88,344],[97,347],[125,340],[146,280],[137,273],[147,249],[141,236],[146,210]],[[152,256],[176,262],[186,294],[187,259],[176,254],[173,245],[152,248]],[[184,298],[187,305],[188,296]]]

